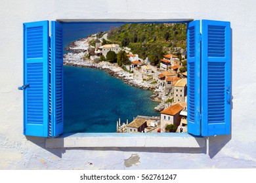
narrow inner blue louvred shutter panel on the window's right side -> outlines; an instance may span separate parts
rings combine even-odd
[[[200,135],[200,21],[187,27],[188,133]]]

